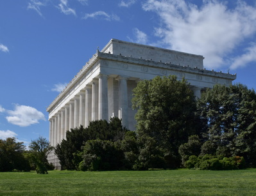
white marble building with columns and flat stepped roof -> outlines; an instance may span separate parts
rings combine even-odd
[[[132,90],[139,80],[176,75],[189,82],[195,96],[214,84],[230,85],[236,75],[205,70],[203,56],[160,49],[148,45],[110,40],[101,52],[81,68],[65,89],[47,107],[49,141],[52,146],[65,139],[65,132],[90,121],[118,116],[123,126],[135,129]],[[60,168],[54,153],[48,156]]]

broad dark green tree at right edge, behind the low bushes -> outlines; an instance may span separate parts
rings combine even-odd
[[[207,89],[198,100],[198,112],[207,121],[208,141],[202,154],[243,156],[256,166],[255,111],[255,91],[242,84]]]

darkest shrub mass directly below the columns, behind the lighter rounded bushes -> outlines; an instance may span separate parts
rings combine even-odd
[[[57,144],[55,154],[60,160],[62,169],[79,169],[83,160],[81,147],[88,140],[109,140],[115,142],[123,139],[127,130],[123,128],[121,120],[112,117],[108,123],[105,120],[91,121],[88,128],[74,128],[66,132],[66,139]]]

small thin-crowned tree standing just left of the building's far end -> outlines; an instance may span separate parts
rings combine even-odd
[[[30,143],[30,152],[32,163],[35,165],[35,169],[38,174],[47,174],[47,169],[51,168],[48,163],[47,155],[53,150],[53,146],[43,138],[32,140]]]

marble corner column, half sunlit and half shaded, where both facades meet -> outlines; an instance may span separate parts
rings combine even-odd
[[[99,112],[98,119],[108,121],[108,76],[99,75]]]

